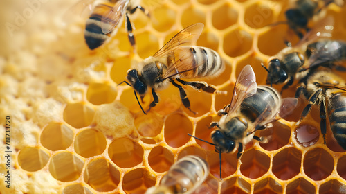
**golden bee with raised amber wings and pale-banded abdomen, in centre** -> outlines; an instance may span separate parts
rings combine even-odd
[[[190,100],[181,85],[190,85],[194,89],[209,92],[221,93],[206,82],[185,81],[181,78],[210,78],[219,76],[225,69],[224,62],[216,51],[201,46],[191,46],[201,35],[203,24],[197,23],[186,27],[170,39],[165,46],[138,64],[137,69],[127,71],[127,85],[134,89],[137,98],[138,94],[143,101],[148,88],[152,89],[154,100],[149,105],[149,109],[158,103],[156,90],[164,89],[170,82],[179,88],[183,105],[190,109]],[[178,81],[181,85],[177,84]],[[121,84],[121,83],[120,83]],[[138,101],[138,98],[137,98]],[[140,105],[139,101],[138,104]],[[140,105],[143,113],[143,110]]]

